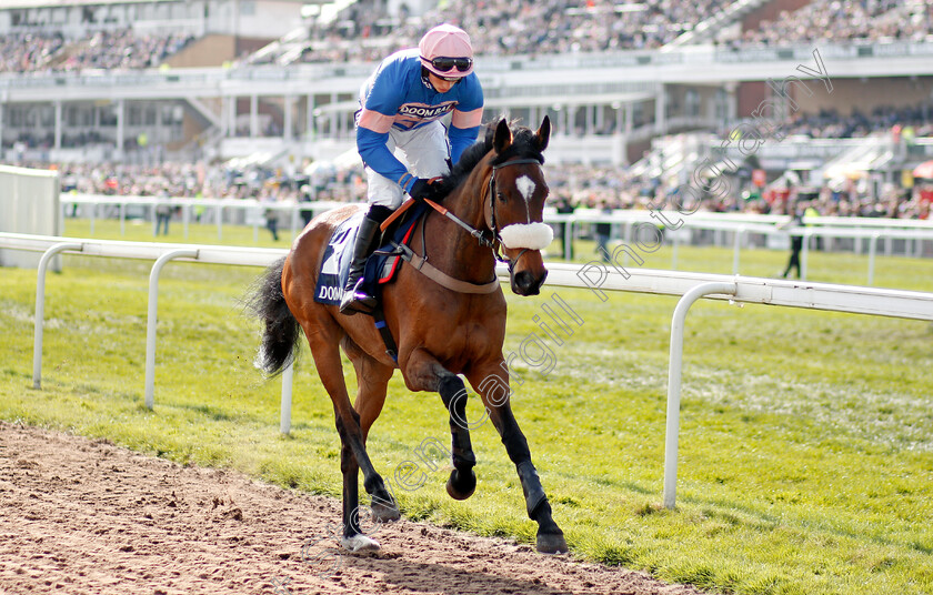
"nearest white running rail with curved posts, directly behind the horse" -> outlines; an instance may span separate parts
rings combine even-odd
[[[43,252],[37,282],[36,339],[33,345],[33,385],[41,386],[42,327],[44,315],[44,276],[48,262],[62,252],[96,256],[153,260],[149,284],[147,326],[146,405],[154,406],[154,357],[158,280],[170,260],[213,264],[265,266],[285,254],[284,250],[231,248],[191,244],[158,244],[80,240],[41,235],[0,233],[0,248]],[[664,461],[664,505],[673,508],[676,498],[678,436],[680,427],[681,365],[683,330],[690,306],[700,298],[805,307],[881,316],[933,321],[933,293],[860,288],[805,281],[712,275],[648,269],[619,270],[599,262],[584,265],[549,263],[546,284],[582,288],[605,301],[606,291],[681,295],[671,325],[670,370],[668,379],[668,426]],[[508,281],[504,266],[496,270]],[[282,377],[281,430],[291,423],[291,367]]]

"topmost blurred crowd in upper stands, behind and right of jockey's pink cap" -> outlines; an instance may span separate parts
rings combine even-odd
[[[540,56],[572,52],[655,49],[723,12],[731,0],[452,0],[418,18],[389,18],[372,2],[360,1],[337,20],[309,23],[300,51],[264,53],[257,62],[378,61],[418,44],[424,30],[440,22],[470,32],[484,56]],[[813,0],[795,11],[734,33],[724,28],[716,41],[734,48],[813,41],[913,40],[933,36],[933,4],[923,0]]]

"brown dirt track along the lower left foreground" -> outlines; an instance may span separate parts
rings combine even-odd
[[[0,422],[0,593],[696,594],[402,521],[379,554],[314,543],[339,502]],[[302,549],[304,547],[304,549]]]

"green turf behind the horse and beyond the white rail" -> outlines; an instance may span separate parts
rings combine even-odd
[[[82,228],[83,225],[83,228]],[[67,234],[87,236],[69,220]],[[181,226],[173,229],[181,241]],[[195,233],[197,232],[197,233]],[[120,238],[98,221],[98,238]],[[126,239],[151,241],[151,228]],[[253,231],[224,228],[253,245]],[[189,241],[218,243],[215,228]],[[260,230],[257,245],[279,244]],[[592,244],[578,244],[579,260]],[[668,268],[670,252],[645,256]],[[864,256],[811,254],[815,281],[862,284]],[[771,275],[784,252],[745,251]],[[729,249],[681,248],[679,269],[729,273]],[[0,270],[0,418],[108,437],[181,463],[237,468],[339,496],[332,407],[304,349],[292,433],[278,381],[252,367],[259,327],[238,299],[258,269],[171,263],[159,298],[156,411],[142,406],[151,263],[66,256],[47,283],[43,389],[31,386],[34,271]],[[745,269],[748,266],[748,270]],[[933,261],[879,258],[879,285],[933,291]],[[106,288],[106,291],[102,291]],[[540,298],[509,295],[506,351]],[[584,320],[546,376],[519,364],[512,400],[554,516],[580,556],[726,593],[933,592],[933,327],[930,323],[701,302],[688,317],[678,510],[660,507],[673,298],[560,289]],[[354,385],[345,366],[348,384]],[[471,400],[468,412],[478,418]],[[397,374],[370,438],[384,476],[425,438],[449,442],[438,395]],[[479,485],[451,501],[445,473],[395,488],[405,515],[531,542],[521,486],[491,424],[473,433]],[[394,484],[395,482],[393,482]],[[295,535],[295,543],[302,536]]]

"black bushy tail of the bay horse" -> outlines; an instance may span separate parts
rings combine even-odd
[[[254,364],[269,376],[277,376],[294,361],[301,326],[285,303],[282,293],[282,270],[285,259],[275,261],[260,276],[247,295],[249,310],[262,324],[262,344]]]

